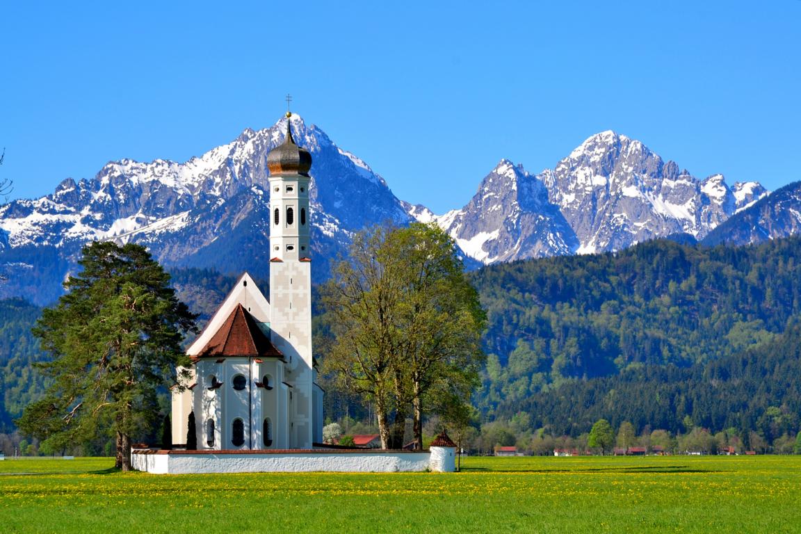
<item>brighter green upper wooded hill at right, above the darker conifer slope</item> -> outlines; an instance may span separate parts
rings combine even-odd
[[[799,252],[798,237],[739,248],[658,240],[485,267],[473,275],[489,315],[479,407],[509,413],[570,380],[679,372],[770,342],[801,311]]]

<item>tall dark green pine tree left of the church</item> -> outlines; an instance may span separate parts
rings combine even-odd
[[[17,424],[54,448],[115,436],[116,465],[127,471],[131,440],[160,420],[157,390],[179,387],[177,369],[189,363],[181,341],[195,315],[144,247],[95,242],[82,252],[83,271],[34,328],[52,356],[38,364],[52,385]]]

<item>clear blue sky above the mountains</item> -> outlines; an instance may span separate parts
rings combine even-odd
[[[699,178],[801,179],[799,0],[124,3],[0,10],[14,198],[201,155],[270,126],[287,93],[437,213],[501,158],[538,172],[608,129]]]

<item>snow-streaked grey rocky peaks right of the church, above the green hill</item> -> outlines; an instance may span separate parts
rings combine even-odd
[[[616,251],[648,239],[702,239],[767,195],[756,182],[698,180],[648,147],[611,130],[591,136],[554,169],[531,175],[501,159],[461,210],[436,221],[482,263]]]

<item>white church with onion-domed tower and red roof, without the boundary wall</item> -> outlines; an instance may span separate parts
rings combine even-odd
[[[267,156],[270,295],[248,273],[191,344],[191,379],[172,396],[172,440],[195,420],[197,450],[311,449],[323,440],[323,390],[312,355],[309,175],[292,139]],[[267,255],[268,253],[268,255]]]

